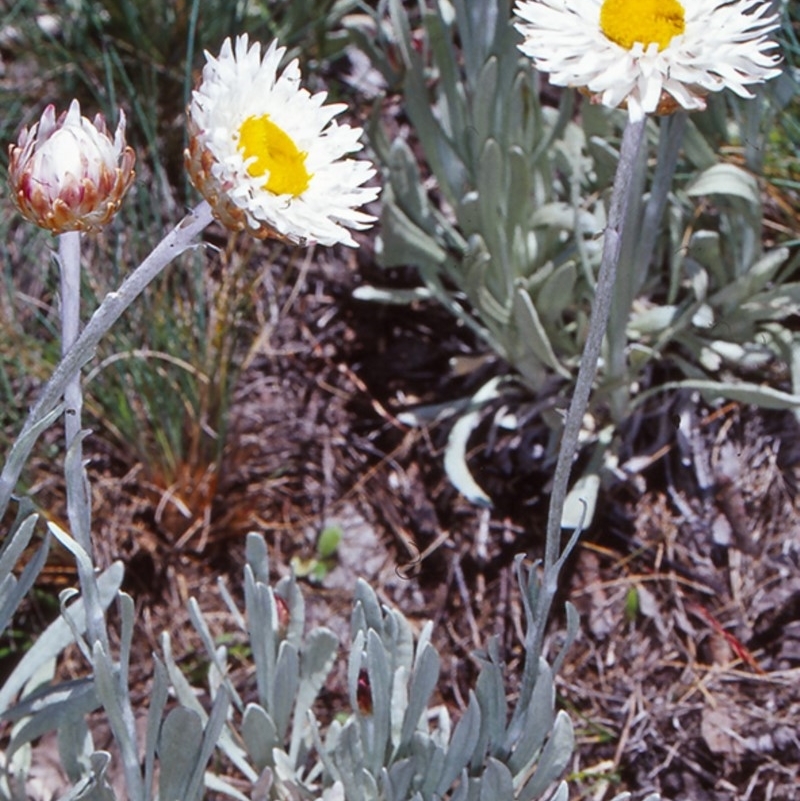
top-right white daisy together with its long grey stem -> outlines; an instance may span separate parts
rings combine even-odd
[[[580,527],[562,548],[562,521],[572,463],[578,449],[583,416],[598,369],[609,314],[615,301],[617,268],[630,222],[628,205],[636,190],[634,174],[646,142],[645,126],[653,114],[704,109],[710,92],[730,89],[752,97],[749,89],[780,73],[777,45],[769,34],[778,27],[768,0],[518,0],[516,27],[524,37],[520,50],[534,65],[549,73],[551,83],[578,87],[591,102],[625,108],[625,128],[611,194],[603,255],[595,287],[589,331],[556,462],[548,510],[544,591],[537,614],[544,632],[558,575],[574,546]],[[678,126],[680,129],[681,126]],[[667,147],[662,177],[653,186],[643,221],[643,241],[631,248],[630,270],[642,269],[638,260],[651,257],[654,232],[663,214],[669,178],[677,150]],[[630,232],[628,232],[630,233]],[[632,298],[638,280],[629,274],[630,287],[622,299]],[[629,307],[616,298],[627,319]],[[620,323],[624,326],[624,323]],[[619,327],[615,327],[618,333]],[[624,364],[624,337],[609,341],[612,372]],[[613,402],[613,398],[612,398]]]

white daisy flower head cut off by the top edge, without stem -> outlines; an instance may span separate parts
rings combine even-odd
[[[559,86],[630,119],[705,108],[780,73],[769,0],[518,0],[520,50]]]

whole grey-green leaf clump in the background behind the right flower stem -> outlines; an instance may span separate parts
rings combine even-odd
[[[570,91],[558,108],[544,105],[542,77],[519,53],[511,17],[509,0],[428,0],[415,15],[385,0],[370,28],[354,23],[355,40],[402,93],[410,123],[408,141],[388,137],[377,113],[371,128],[385,186],[380,263],[413,266],[424,285],[358,294],[436,299],[538,399],[559,405],[571,397],[585,343],[625,114],[584,101],[575,116]],[[772,81],[754,101],[714,97],[703,115],[648,121],[645,155],[655,158],[643,157],[632,180],[589,410],[595,434],[585,441],[596,447],[584,494],[617,447],[619,427],[652,392],[798,407],[800,343],[783,322],[800,312],[797,258],[788,260],[786,248],[763,252],[757,165],[723,163],[718,153],[736,137],[746,155],[758,153],[766,120],[789,102],[794,81]],[[674,380],[655,385],[656,366]],[[769,385],[776,382],[791,391]],[[485,384],[473,410],[499,391]],[[466,417],[446,467],[468,498],[488,503],[465,465],[478,415]],[[544,417],[560,428],[557,415]]]

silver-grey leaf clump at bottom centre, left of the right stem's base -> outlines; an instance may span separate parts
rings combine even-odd
[[[228,687],[241,718],[229,721],[230,739],[220,745],[254,783],[258,797],[549,797],[571,758],[574,738],[569,717],[555,709],[552,670],[537,653],[539,587],[533,571],[518,564],[529,630],[517,700],[509,710],[504,666],[490,639],[467,709],[454,727],[444,706],[431,706],[441,661],[431,624],[415,636],[408,620],[382,607],[369,584],[359,580],[347,657],[351,711],[323,730],[311,710],[333,666],[337,639],[324,627],[304,633],[304,601],[294,577],[272,588],[263,540],[251,535],[247,550],[246,616],[237,617],[252,647],[257,700],[243,705]],[[570,620],[574,625],[572,614]],[[199,614],[195,623],[203,633]],[[225,653],[214,649],[207,633],[204,640],[212,655],[211,685],[224,686]],[[196,694],[185,686],[179,698],[184,696],[189,701]],[[558,785],[555,797],[567,797],[565,784]]]

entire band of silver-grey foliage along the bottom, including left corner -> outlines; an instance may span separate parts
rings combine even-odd
[[[0,579],[8,588],[3,606],[16,602],[27,583],[24,573],[15,583],[6,568],[34,524],[35,515],[25,511],[9,540],[13,547],[0,555]],[[52,524],[50,533],[78,551]],[[441,661],[431,624],[415,634],[399,611],[381,606],[374,590],[359,580],[346,656],[350,711],[340,711],[323,727],[314,706],[340,643],[324,626],[306,630],[305,601],[295,577],[272,586],[266,545],[251,534],[244,614],[219,586],[238,639],[247,642],[254,687],[245,695],[233,685],[227,649],[214,640],[192,599],[190,617],[208,657],[208,703],[201,702],[203,689],[181,671],[164,634],[161,654],[153,657],[148,699],[137,706],[144,714],[142,727],[135,723],[129,680],[134,605],[120,591],[123,570],[114,564],[98,576],[96,601],[104,610],[116,599],[117,656],[100,642],[89,646],[84,602],[66,590],[61,616],[0,690],[0,715],[12,724],[2,755],[0,799],[27,798],[32,744],[55,731],[61,767],[73,783],[64,801],[199,801],[212,792],[239,801],[566,801],[561,777],[572,758],[574,736],[569,716],[555,707],[554,673],[575,635],[577,618],[568,605],[565,645],[551,667],[541,643],[556,585],[546,589],[535,566],[524,567],[521,557],[516,570],[526,634],[513,703],[505,665],[489,638],[467,708],[453,725],[444,706],[431,705]],[[90,671],[58,682],[56,657],[71,642],[78,644]],[[94,744],[87,716],[99,709],[113,736],[113,757]],[[112,760],[118,760],[114,770]],[[110,779],[120,768],[114,785],[124,781],[124,796],[116,794]]]

